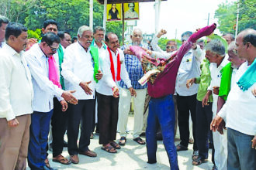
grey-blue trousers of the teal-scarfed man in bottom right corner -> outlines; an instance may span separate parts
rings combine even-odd
[[[251,148],[253,135],[227,128],[227,169],[256,170],[256,150]]]

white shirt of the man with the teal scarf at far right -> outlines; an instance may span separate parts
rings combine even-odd
[[[248,63],[243,63],[235,75],[235,82],[249,68]],[[220,117],[226,117],[226,127],[248,135],[256,135],[256,97],[251,90],[256,86],[254,83],[248,90],[240,90],[237,83],[231,88],[226,104],[218,113]]]

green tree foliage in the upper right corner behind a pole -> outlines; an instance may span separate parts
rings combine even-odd
[[[255,0],[240,0],[240,12],[238,19],[238,32],[251,28],[256,29],[256,3]],[[215,12],[218,19],[220,32],[235,32],[237,22],[237,2],[223,3]]]

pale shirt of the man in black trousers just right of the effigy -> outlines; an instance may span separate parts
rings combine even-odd
[[[187,80],[199,77],[201,74],[200,63],[202,58],[202,49],[197,46],[196,49],[190,49],[182,58],[182,63],[178,68],[175,90],[180,96],[192,96],[197,93],[199,84],[193,83],[189,89],[186,87]]]

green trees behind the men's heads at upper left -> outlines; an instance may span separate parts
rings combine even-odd
[[[24,24],[30,30],[42,29],[45,20],[54,19],[59,30],[76,36],[80,26],[89,25],[88,0],[4,0],[0,1],[0,7],[0,14],[9,17],[12,22]],[[94,0],[94,27],[103,25],[103,8]],[[107,22],[106,31],[115,32],[122,39],[122,22]]]

